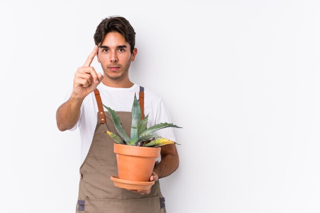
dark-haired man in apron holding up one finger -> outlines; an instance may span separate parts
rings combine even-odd
[[[123,116],[129,118],[134,93],[140,94],[142,112],[149,114],[148,127],[161,122],[171,123],[162,98],[129,79],[130,63],[138,53],[134,29],[123,17],[108,17],[97,27],[94,39],[93,52],[77,69],[70,98],[56,114],[60,131],[80,129],[83,163],[76,211],[166,212],[158,178],[177,169],[179,157],[175,145],[161,147],[161,161],[155,165],[150,177],[155,184],[149,190],[129,191],[114,186],[110,180],[111,175],[118,174],[113,140],[101,134],[113,125],[102,103],[115,111],[125,112]],[[95,56],[101,63],[103,76],[90,66]],[[127,125],[130,124],[123,124]],[[157,134],[175,141],[172,128],[159,130]]]

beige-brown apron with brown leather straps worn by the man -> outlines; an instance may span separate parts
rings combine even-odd
[[[109,112],[104,112],[99,90],[95,90],[98,122],[88,154],[80,167],[79,197],[76,212],[82,213],[165,213],[159,181],[149,195],[140,195],[113,185],[110,176],[118,175],[114,141],[107,130],[117,132]],[[144,92],[140,87],[140,106],[143,113]],[[125,132],[130,135],[131,112],[117,112]]]

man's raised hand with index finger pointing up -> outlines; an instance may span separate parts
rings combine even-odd
[[[90,92],[94,91],[103,79],[103,75],[97,74],[94,67],[90,66],[98,53],[98,46],[88,56],[82,67],[77,69],[73,81],[72,98],[84,99]]]

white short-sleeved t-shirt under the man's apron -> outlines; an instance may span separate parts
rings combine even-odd
[[[137,99],[139,99],[140,86],[134,84],[130,88],[115,88],[108,87],[103,83],[100,83],[97,87],[100,92],[102,103],[111,109],[117,111],[131,112],[134,93]],[[65,97],[65,101],[70,98],[70,91]],[[144,90],[145,92],[145,116],[149,114],[147,127],[151,127],[159,123],[172,123],[170,114],[166,109],[162,97],[159,94],[150,91],[149,89]],[[92,139],[94,136],[95,128],[97,125],[97,113],[98,106],[95,97],[95,93],[91,92],[82,102],[80,112],[80,119],[77,124],[70,130],[80,129],[80,143],[81,143],[81,163],[84,161]],[[104,111],[107,111],[104,109]],[[157,135],[168,138],[175,141],[173,129],[171,127],[164,128],[156,131]]]

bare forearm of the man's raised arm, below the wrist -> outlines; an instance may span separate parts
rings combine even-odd
[[[60,131],[73,128],[79,120],[80,108],[83,99],[76,99],[72,96],[63,103],[56,113],[57,126]]]

